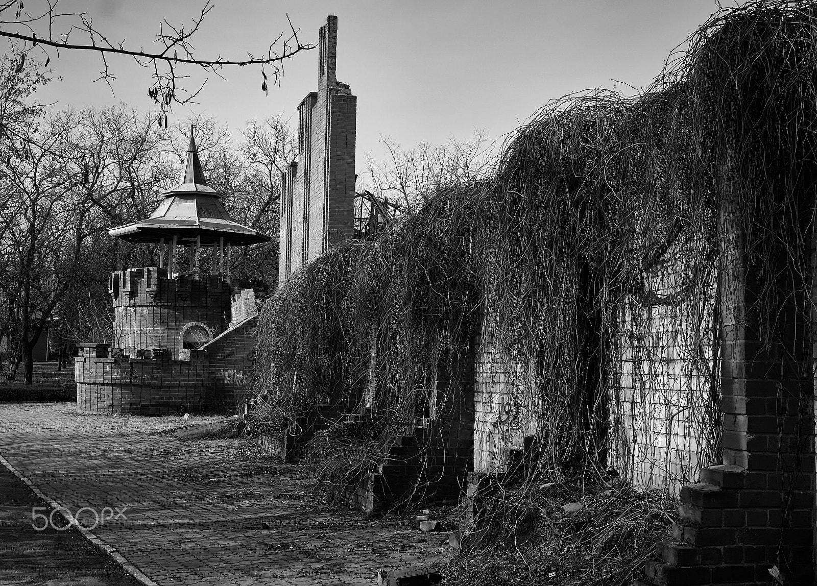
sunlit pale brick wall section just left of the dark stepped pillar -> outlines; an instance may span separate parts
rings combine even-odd
[[[609,459],[634,486],[677,495],[713,463],[720,417],[715,284],[688,291],[674,256],[643,277],[650,295],[630,297],[618,322]]]

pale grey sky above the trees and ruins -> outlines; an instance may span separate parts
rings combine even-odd
[[[27,0],[33,12],[45,0]],[[491,141],[519,127],[548,100],[603,87],[632,93],[647,87],[667,55],[717,11],[717,0],[214,0],[193,39],[196,55],[243,58],[261,53],[282,31],[286,15],[302,42],[317,42],[328,15],[338,17],[337,79],[358,96],[357,166],[382,157],[382,137],[408,148],[467,139]],[[725,5],[733,5],[727,4]],[[109,40],[150,48],[159,22],[189,25],[203,0],[60,0],[84,11]],[[280,86],[261,91],[259,68],[210,75],[198,104],[175,106],[169,122],[201,113],[238,131],[253,118],[285,113],[317,82],[317,50],[285,63]],[[124,102],[152,107],[150,70],[110,57],[113,91],[99,77],[98,56],[51,54],[55,78],[42,101],[59,107]],[[204,80],[195,69],[188,87]]]

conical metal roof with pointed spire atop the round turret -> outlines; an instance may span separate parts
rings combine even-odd
[[[220,238],[234,246],[269,242],[270,237],[230,218],[221,195],[204,179],[199,151],[190,136],[185,172],[180,184],[163,193],[164,201],[150,218],[109,229],[114,238],[126,242],[159,242],[173,236],[184,242],[201,238],[203,245],[217,244]]]

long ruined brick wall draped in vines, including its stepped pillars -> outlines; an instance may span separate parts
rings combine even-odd
[[[629,485],[680,499],[642,586],[815,584],[817,118],[806,80],[817,49],[813,14],[783,5],[718,13],[654,94],[544,109],[489,189],[449,187],[378,242],[386,262],[330,251],[315,271],[329,294],[292,282],[284,309],[319,308],[304,317],[311,331],[343,344],[289,336],[266,348],[279,367],[268,395],[300,385],[311,400],[268,445],[298,459],[321,439],[310,455],[367,512],[458,500],[452,547],[489,534],[534,543],[538,513],[502,535],[488,505],[513,503],[523,480],[525,498],[552,486],[540,473],[559,458],[570,473],[604,464],[608,495]],[[399,318],[372,312],[370,328],[346,327],[395,300]],[[270,329],[275,303],[261,316]],[[312,380],[315,364],[338,366]],[[386,415],[366,420],[378,389]],[[394,426],[378,436],[384,421]]]

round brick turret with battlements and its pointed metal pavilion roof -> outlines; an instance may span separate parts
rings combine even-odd
[[[110,274],[114,344],[79,344],[79,411],[165,415],[234,406],[242,395],[257,306],[252,289],[230,282],[230,252],[270,237],[230,218],[192,136],[181,183],[163,195],[150,218],[109,230],[157,246],[159,260]]]

